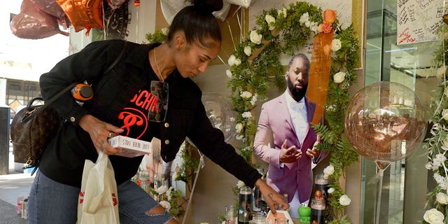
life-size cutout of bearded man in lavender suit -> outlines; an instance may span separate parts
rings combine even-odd
[[[308,204],[311,196],[311,160],[317,163],[326,155],[314,148],[320,139],[309,125],[316,104],[305,97],[308,76],[308,57],[294,55],[285,73],[288,87],[262,105],[253,143],[255,154],[269,163],[267,184],[278,193],[288,194],[293,218],[298,218],[297,208]]]

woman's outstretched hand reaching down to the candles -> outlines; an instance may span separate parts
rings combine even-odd
[[[260,189],[260,193],[263,195],[263,198],[265,199],[267,206],[269,206],[269,209],[271,209],[272,214],[276,214],[276,209],[279,208],[279,205],[281,205],[282,210],[289,208],[289,204],[288,202],[285,202],[284,197],[279,193],[276,193],[276,191],[269,187],[262,179],[258,179],[255,182],[255,186],[258,186],[258,189]]]

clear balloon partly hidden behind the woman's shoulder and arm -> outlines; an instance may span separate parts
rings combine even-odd
[[[224,139],[230,143],[235,137],[235,111],[232,111],[230,99],[218,92],[204,92],[202,102],[211,125],[223,131]]]

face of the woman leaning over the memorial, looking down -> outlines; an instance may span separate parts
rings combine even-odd
[[[177,51],[175,55],[176,67],[183,78],[197,76],[199,73],[204,73],[221,49],[221,43],[209,38],[206,43],[211,47],[205,47],[199,42],[193,44],[185,44]]]

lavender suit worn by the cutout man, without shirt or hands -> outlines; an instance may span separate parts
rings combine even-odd
[[[307,119],[310,123],[313,119],[316,104],[310,102],[306,97],[305,104],[307,104]],[[284,163],[281,168],[280,149],[285,139],[288,139],[288,147],[296,146],[297,149],[300,148],[302,158],[298,162]],[[306,152],[308,148],[313,148],[315,141],[316,133],[309,127],[303,145],[300,145],[286,105],[285,94],[281,94],[262,105],[253,143],[254,152],[262,160],[269,163],[267,184],[278,193],[288,194],[289,202],[293,200],[297,188],[299,189],[300,202],[309,200],[311,196],[313,174],[311,158]],[[321,152],[319,160],[324,158],[325,155],[326,153]]]

